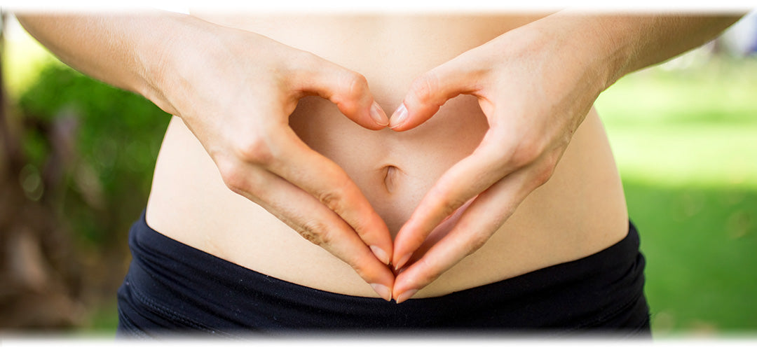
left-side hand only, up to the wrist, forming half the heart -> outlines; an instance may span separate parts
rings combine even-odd
[[[339,166],[307,147],[288,125],[306,95],[318,95],[367,129],[388,118],[360,74],[263,36],[217,29],[182,43],[166,64],[164,110],[180,116],[225,184],[304,238],[349,264],[391,299],[392,241],[382,218]],[[169,58],[173,59],[173,58]]]

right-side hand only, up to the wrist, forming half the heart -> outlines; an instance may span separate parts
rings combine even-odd
[[[472,94],[489,123],[481,144],[439,178],[400,228],[392,258],[399,269],[392,293],[397,302],[483,246],[547,182],[603,89],[598,55],[575,48],[569,42],[575,33],[548,20],[505,33],[420,76],[391,116],[391,129],[406,131],[450,98]],[[419,256],[429,234],[450,216],[453,228]]]

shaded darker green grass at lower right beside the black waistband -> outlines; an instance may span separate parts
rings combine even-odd
[[[757,330],[757,191],[625,181],[656,335]]]

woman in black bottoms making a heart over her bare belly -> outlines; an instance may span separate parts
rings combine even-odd
[[[119,292],[134,336],[648,333],[643,256],[592,104],[737,20],[18,17],[72,67],[174,115]]]

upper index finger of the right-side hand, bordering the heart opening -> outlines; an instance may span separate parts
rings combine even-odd
[[[463,158],[439,178],[418,204],[394,239],[392,265],[401,268],[428,234],[456,209],[514,171],[509,150],[491,141],[490,130],[470,156]]]

